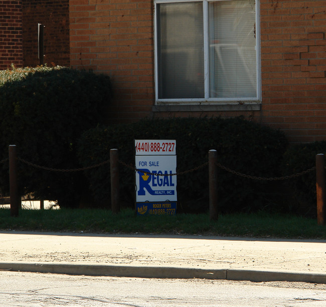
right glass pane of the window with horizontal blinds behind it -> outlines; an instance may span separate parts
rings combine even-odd
[[[211,2],[208,16],[210,97],[255,97],[254,2]]]

